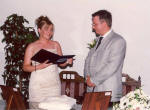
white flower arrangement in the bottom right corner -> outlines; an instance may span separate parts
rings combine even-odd
[[[113,110],[150,110],[150,97],[141,88],[136,89],[122,97]]]

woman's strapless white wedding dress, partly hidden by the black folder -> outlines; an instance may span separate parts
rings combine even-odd
[[[49,49],[53,53],[57,53],[56,49]],[[35,62],[32,61],[35,65]],[[36,62],[36,65],[38,63]],[[52,64],[44,69],[36,70],[31,73],[29,83],[29,101],[43,102],[49,97],[58,97],[61,95],[60,78],[58,67]]]

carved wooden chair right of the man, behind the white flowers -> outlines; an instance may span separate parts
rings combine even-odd
[[[135,90],[136,88],[141,87],[141,77],[138,77],[138,80],[135,80],[133,78],[131,78],[128,74],[123,73],[122,74],[123,77],[123,81],[122,81],[122,85],[123,85],[123,96],[126,95],[127,93],[129,93],[130,91]]]

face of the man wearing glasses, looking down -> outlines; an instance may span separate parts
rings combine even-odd
[[[103,31],[103,21],[99,19],[99,16],[95,16],[92,19],[92,28],[96,32],[96,34],[101,35]]]

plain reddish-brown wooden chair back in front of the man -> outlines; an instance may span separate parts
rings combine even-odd
[[[107,110],[111,94],[111,91],[86,93],[82,110]]]

